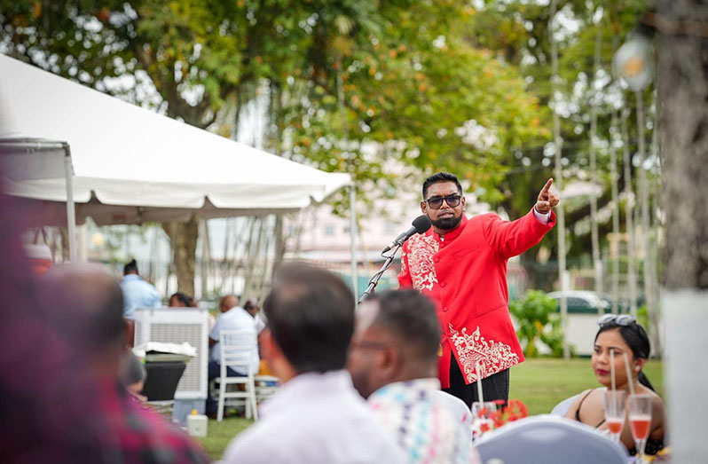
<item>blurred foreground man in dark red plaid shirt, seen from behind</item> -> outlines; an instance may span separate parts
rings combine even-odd
[[[75,462],[208,462],[198,444],[143,408],[119,381],[123,299],[115,280],[98,266],[67,264],[44,274],[38,287],[52,295],[46,314],[70,349],[57,356],[75,366],[72,396],[55,398],[67,411],[64,445],[75,449]]]

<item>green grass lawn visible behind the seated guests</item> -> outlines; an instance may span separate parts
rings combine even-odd
[[[660,361],[649,361],[644,373],[664,396],[664,376]],[[530,359],[511,368],[510,398],[520,399],[529,409],[529,414],[550,413],[557,403],[584,389],[598,387],[590,359],[538,358]],[[212,460],[221,459],[226,445],[252,421],[240,417],[224,419],[222,422],[208,422],[208,436],[201,438],[201,444]]]

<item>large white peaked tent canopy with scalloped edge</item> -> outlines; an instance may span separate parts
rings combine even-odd
[[[294,211],[350,185],[0,55],[0,139],[34,138],[70,147],[76,216],[98,224]],[[64,211],[64,178],[3,180]]]

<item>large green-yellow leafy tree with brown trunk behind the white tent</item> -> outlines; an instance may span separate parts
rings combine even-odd
[[[475,15],[453,0],[0,0],[0,47],[226,137],[267,89],[271,151],[350,172],[364,196],[395,193],[396,161],[501,201],[508,153],[547,128],[517,64],[468,40]],[[189,292],[197,221],[163,228]]]

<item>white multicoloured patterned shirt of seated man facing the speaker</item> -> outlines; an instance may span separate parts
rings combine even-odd
[[[409,463],[477,463],[469,423],[457,421],[438,396],[437,379],[397,381],[377,389],[369,406]]]

